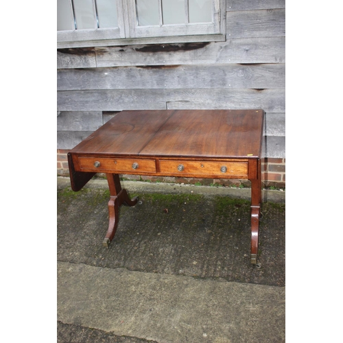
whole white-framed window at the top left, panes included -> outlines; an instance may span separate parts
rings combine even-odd
[[[57,0],[58,47],[225,40],[226,0]]]

